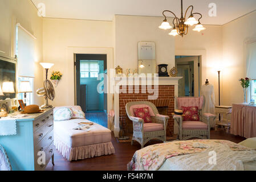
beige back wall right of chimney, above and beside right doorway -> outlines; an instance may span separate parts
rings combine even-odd
[[[175,37],[176,55],[202,55],[201,85],[208,79],[214,85],[218,104],[218,73],[214,67],[222,61],[222,26],[205,26],[202,32],[189,28],[188,35]]]

